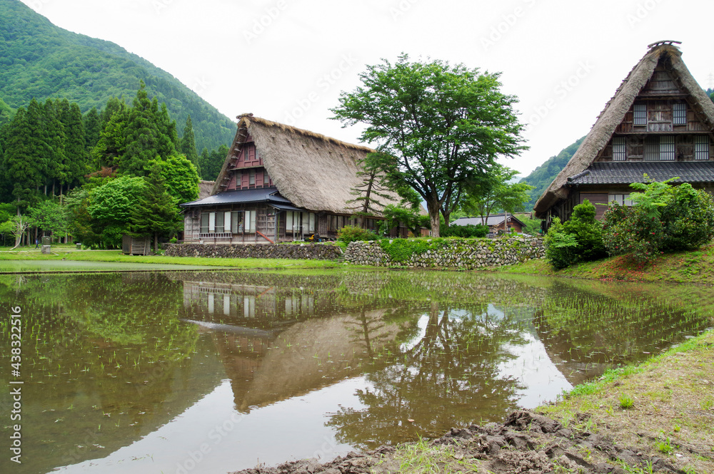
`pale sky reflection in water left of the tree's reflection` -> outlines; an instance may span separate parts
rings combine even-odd
[[[243,414],[233,408],[231,382],[224,380],[191,408],[141,440],[106,458],[58,472],[169,474],[183,473],[182,466],[187,473],[214,474],[252,468],[258,463],[331,460],[353,448],[335,440],[332,428],[324,424],[326,413],[336,412],[342,405],[363,408],[355,391],[367,384],[363,377],[351,378]]]

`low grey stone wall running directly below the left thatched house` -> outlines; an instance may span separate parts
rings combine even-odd
[[[342,249],[323,244],[166,244],[171,257],[219,257],[256,259],[319,259],[342,257]]]

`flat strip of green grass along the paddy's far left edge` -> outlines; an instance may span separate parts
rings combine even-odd
[[[51,254],[24,249],[0,252],[0,272],[61,272],[111,270],[116,264],[154,266],[157,270],[186,267],[223,267],[230,269],[301,269],[335,268],[340,264],[328,260],[288,259],[218,259],[210,257],[166,257],[165,255],[124,255],[119,250],[81,250],[53,247]],[[19,262],[25,262],[24,264]],[[31,264],[30,262],[34,262]],[[44,263],[40,263],[44,262]],[[52,262],[55,262],[53,264]],[[75,262],[74,267],[68,262]],[[107,265],[102,265],[104,262]],[[164,268],[164,266],[171,268]],[[36,269],[36,270],[33,270]],[[136,267],[139,269],[139,267]]]

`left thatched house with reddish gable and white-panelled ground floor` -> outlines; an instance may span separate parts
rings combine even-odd
[[[339,229],[358,222],[350,201],[363,184],[359,163],[372,151],[253,114],[239,115],[236,138],[210,195],[181,205],[186,210],[183,241],[336,237]],[[364,225],[373,230],[380,219],[367,218]]]

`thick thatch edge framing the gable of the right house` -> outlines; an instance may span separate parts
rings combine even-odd
[[[670,73],[674,76],[675,82],[693,99],[693,103],[690,103],[690,105],[707,127],[710,130],[714,129],[714,104],[695,81],[685,63],[683,63],[682,53],[679,48],[671,43],[672,41],[660,41],[650,45],[649,51],[640,59],[640,62],[635,65],[620,84],[618,90],[615,91],[615,96],[605,104],[605,109],[598,116],[595,125],[590,129],[590,133],[585,137],[573,158],[570,158],[565,168],[558,173],[553,182],[550,183],[550,186],[548,186],[548,189],[535,203],[533,207],[535,217],[545,218],[551,206],[558,200],[568,197],[568,188],[565,186],[568,177],[583,172],[597,158],[600,150],[605,148],[615,129],[625,118],[625,113],[630,110],[635,98],[649,81],[660,58],[663,56],[668,57],[670,60]]]

